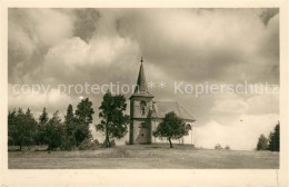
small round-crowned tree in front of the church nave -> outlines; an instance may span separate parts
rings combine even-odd
[[[172,139],[179,139],[188,135],[189,129],[186,128],[183,120],[178,117],[173,111],[166,114],[163,120],[158,125],[153,131],[155,137],[165,137],[170,142],[172,148]]]

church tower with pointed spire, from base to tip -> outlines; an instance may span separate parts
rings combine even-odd
[[[129,144],[151,144],[151,108],[153,96],[148,91],[143,60],[140,60],[139,77],[130,99]]]

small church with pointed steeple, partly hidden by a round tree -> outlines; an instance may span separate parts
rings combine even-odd
[[[155,96],[148,90],[143,60],[141,58],[139,76],[134,92],[130,96],[130,130],[129,144],[167,142],[152,136],[153,130],[162,121],[166,114],[175,111],[189,127],[189,135],[172,142],[195,145],[195,118],[177,101],[155,101]]]

